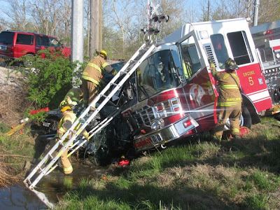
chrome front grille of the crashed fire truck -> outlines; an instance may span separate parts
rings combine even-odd
[[[137,120],[138,126],[147,125],[151,126],[152,121],[155,119],[155,113],[151,106],[144,106],[141,109],[138,109],[132,116]]]

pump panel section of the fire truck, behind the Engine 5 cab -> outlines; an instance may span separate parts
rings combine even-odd
[[[262,59],[262,71],[265,76],[273,108],[266,115],[280,112],[280,20],[268,22],[250,28]]]

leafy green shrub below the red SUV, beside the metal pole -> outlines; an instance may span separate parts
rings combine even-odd
[[[83,64],[71,62],[69,58],[63,57],[61,52],[50,53],[49,50],[40,52],[46,59],[41,59],[41,55],[21,57],[22,62],[26,63],[28,59],[31,65],[25,69],[29,93],[27,99],[35,102],[35,109],[46,106],[56,109],[66,92],[72,87],[73,69],[81,66],[75,72],[79,77]]]

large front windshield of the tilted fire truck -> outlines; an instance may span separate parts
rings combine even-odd
[[[170,50],[156,52],[137,69],[139,101],[179,85]]]

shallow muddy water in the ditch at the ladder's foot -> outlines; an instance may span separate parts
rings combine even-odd
[[[59,169],[44,176],[36,185],[38,192],[44,193],[52,204],[57,203],[69,188],[76,188],[81,179],[102,179],[109,167],[88,167],[79,163],[73,164],[73,173],[64,175]],[[68,190],[67,190],[68,189]],[[48,209],[48,207],[23,183],[0,189],[0,209]]]

